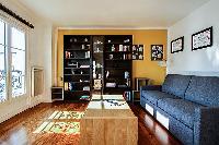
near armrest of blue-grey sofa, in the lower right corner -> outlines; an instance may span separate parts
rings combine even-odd
[[[215,145],[219,138],[219,107],[196,108],[194,122],[194,144]]]

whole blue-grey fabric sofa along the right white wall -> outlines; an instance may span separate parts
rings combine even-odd
[[[140,105],[158,121],[168,119],[183,144],[219,144],[219,77],[169,74],[162,86],[141,87]]]

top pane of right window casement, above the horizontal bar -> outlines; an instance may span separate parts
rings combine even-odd
[[[25,50],[25,33],[11,28],[11,47]]]

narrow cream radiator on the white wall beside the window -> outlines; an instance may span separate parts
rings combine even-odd
[[[39,96],[44,93],[44,69],[41,67],[32,68],[32,96]]]

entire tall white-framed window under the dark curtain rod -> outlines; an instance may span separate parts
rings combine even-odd
[[[0,102],[26,93],[25,33],[0,20]]]

